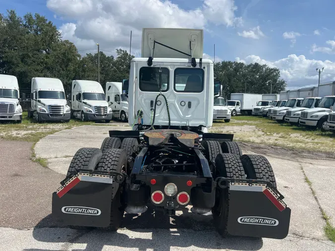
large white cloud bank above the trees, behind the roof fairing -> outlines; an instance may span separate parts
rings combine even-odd
[[[203,0],[201,7],[191,10],[169,0],[48,0],[47,6],[63,20],[71,20],[62,26],[62,35],[82,50],[94,50],[95,43],[106,51],[129,50],[133,31],[132,52],[138,52],[143,27],[206,29],[209,22],[242,22],[235,16],[234,0]]]

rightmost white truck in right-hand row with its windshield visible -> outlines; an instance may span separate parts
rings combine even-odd
[[[318,127],[321,130],[328,130],[327,120],[332,112],[331,107],[335,105],[335,96],[326,96],[320,100],[317,108],[301,112],[299,124]]]

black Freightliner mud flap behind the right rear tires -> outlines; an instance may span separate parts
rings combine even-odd
[[[291,209],[275,189],[265,184],[230,184],[228,233],[236,236],[284,239]]]

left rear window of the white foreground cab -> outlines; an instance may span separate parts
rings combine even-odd
[[[162,92],[169,89],[169,69],[161,67]],[[147,92],[159,92],[159,67],[141,67],[139,69],[139,89]]]

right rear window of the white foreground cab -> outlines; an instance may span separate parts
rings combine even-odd
[[[176,92],[200,93],[203,91],[203,78],[201,68],[176,68],[173,89]]]

